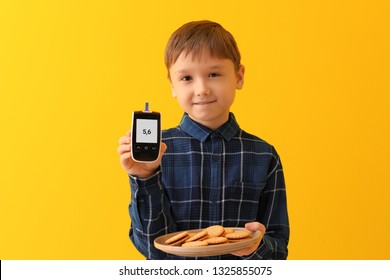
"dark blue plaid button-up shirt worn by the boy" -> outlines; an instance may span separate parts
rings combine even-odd
[[[147,179],[130,176],[130,239],[147,259],[182,258],[156,249],[158,236],[253,221],[267,232],[252,255],[206,259],[287,258],[286,189],[273,146],[241,130],[232,113],[215,131],[184,114],[179,126],[163,131],[163,141],[159,170]]]

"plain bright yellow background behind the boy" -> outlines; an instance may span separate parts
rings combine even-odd
[[[0,259],[142,259],[116,152],[149,101],[176,126],[163,51],[234,34],[232,111],[285,169],[289,259],[390,258],[388,1],[0,2]]]

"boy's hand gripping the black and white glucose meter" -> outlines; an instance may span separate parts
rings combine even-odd
[[[120,162],[123,169],[130,175],[139,178],[148,178],[153,175],[156,169],[160,166],[161,158],[167,150],[167,145],[161,142],[160,154],[158,159],[154,162],[144,163],[136,162],[131,157],[131,131],[127,132],[126,136],[122,136],[119,139],[118,153],[120,156]]]

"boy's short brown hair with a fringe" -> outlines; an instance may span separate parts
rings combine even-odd
[[[192,21],[177,29],[165,48],[165,65],[169,69],[180,54],[199,57],[208,50],[211,56],[230,59],[236,70],[240,67],[241,55],[232,34],[220,24],[208,20]]]

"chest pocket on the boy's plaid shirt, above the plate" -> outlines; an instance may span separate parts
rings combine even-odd
[[[266,183],[236,182],[225,189],[224,220],[230,226],[243,226],[246,222],[256,221],[261,193]]]

